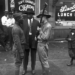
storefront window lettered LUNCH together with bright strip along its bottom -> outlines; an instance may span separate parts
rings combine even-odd
[[[75,25],[75,3],[63,2],[56,6],[55,21],[59,26]]]

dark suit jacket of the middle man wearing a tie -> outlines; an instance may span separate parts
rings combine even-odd
[[[32,32],[32,40],[31,40],[31,43],[32,43],[32,48],[36,48],[37,46],[37,40],[35,39],[36,37],[36,33],[37,33],[37,27],[40,26],[40,23],[33,18],[33,23],[31,24],[31,32]],[[23,19],[23,24],[21,24],[21,28],[23,29],[24,31],[24,35],[26,37],[26,45],[25,45],[25,48],[26,49],[29,49],[29,25],[28,25],[28,18],[24,18]]]

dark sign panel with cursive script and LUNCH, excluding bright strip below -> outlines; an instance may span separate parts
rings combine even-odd
[[[64,2],[56,6],[55,20],[75,21],[75,3]]]

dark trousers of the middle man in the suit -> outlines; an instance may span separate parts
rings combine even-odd
[[[36,49],[34,49],[34,48],[24,50],[24,62],[23,62],[24,70],[27,70],[30,52],[31,52],[31,68],[32,68],[32,70],[35,70]]]

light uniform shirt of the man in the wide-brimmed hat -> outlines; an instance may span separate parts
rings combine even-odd
[[[51,33],[51,24],[47,22],[44,25],[42,25],[38,39],[42,42],[48,42],[50,39],[50,33]]]

